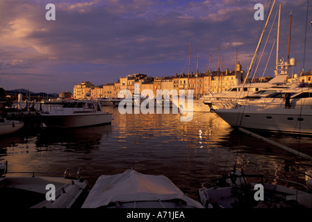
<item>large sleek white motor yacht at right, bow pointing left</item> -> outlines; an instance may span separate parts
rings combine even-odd
[[[286,92],[273,94],[256,102],[237,104],[235,108],[215,110],[232,127],[311,134],[312,88],[299,89],[290,96],[290,108],[282,98]]]

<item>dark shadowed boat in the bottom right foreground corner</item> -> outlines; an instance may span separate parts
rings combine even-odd
[[[284,184],[302,187],[302,190]],[[199,197],[206,208],[312,207],[311,190],[305,185],[261,174],[247,174],[243,168],[241,172],[236,170],[229,176],[205,182],[199,189]]]

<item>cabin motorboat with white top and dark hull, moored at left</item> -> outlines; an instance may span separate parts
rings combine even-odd
[[[103,112],[95,101],[71,101],[62,107],[53,106],[42,110],[42,122],[55,128],[76,128],[110,124],[113,114]]]

